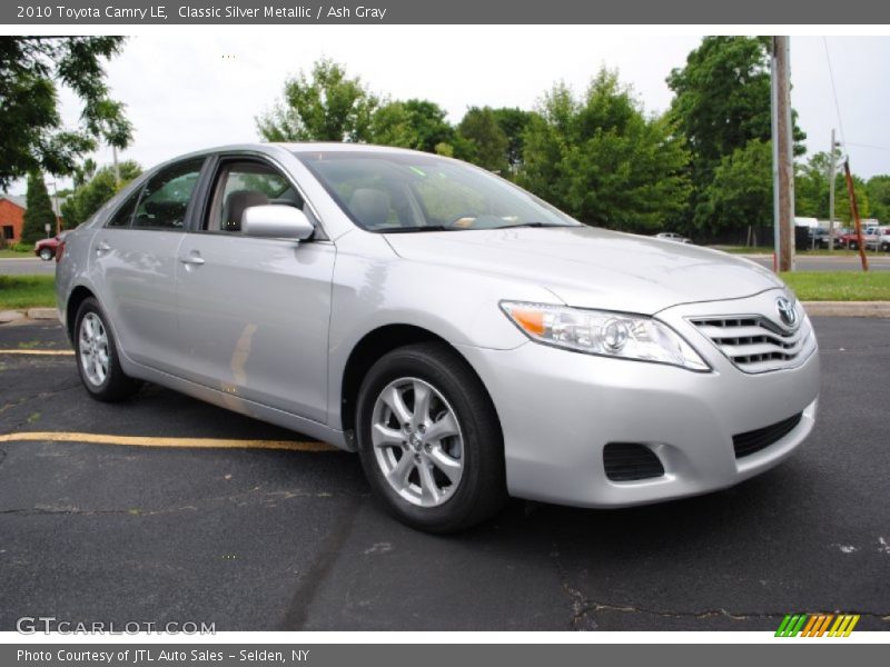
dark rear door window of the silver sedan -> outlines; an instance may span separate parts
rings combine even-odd
[[[204,159],[190,160],[152,176],[142,190],[132,226],[182,229],[202,163]]]

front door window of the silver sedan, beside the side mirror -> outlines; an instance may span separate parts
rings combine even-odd
[[[244,211],[251,206],[275,203],[303,209],[299,193],[288,180],[264,162],[224,163],[216,179],[212,205],[204,228],[238,232]]]

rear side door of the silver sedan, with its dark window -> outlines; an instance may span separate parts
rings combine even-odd
[[[134,191],[93,237],[100,301],[123,352],[172,371],[180,365],[174,285],[204,158],[166,167]]]

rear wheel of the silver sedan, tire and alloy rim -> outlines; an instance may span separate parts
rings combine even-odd
[[[85,299],[77,311],[75,357],[80,381],[96,400],[123,400],[139,389],[139,381],[120,368],[115,335],[99,302],[92,297]]]

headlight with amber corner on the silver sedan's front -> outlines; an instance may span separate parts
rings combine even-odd
[[[589,355],[710,370],[679,334],[651,317],[520,301],[501,301],[501,308],[537,342]]]

